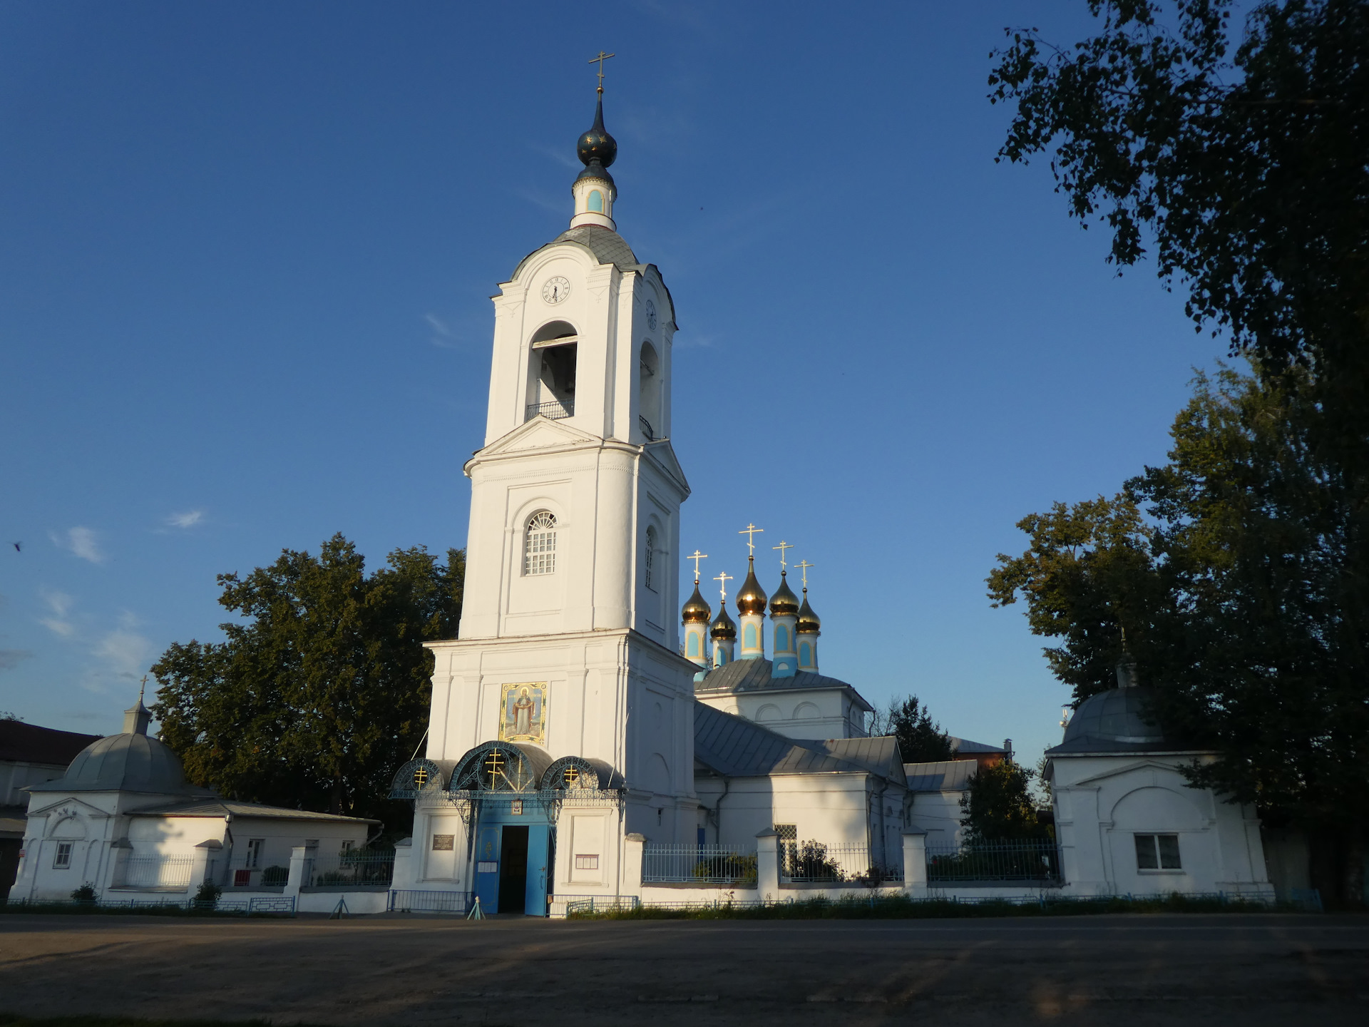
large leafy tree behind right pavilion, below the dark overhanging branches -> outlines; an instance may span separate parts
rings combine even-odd
[[[1309,377],[1199,375],[1168,463],[1106,516],[1088,501],[1024,519],[1031,546],[999,556],[988,592],[1062,639],[1047,657],[1076,701],[1110,687],[1125,627],[1161,723],[1223,757],[1194,783],[1325,835],[1324,887],[1350,898],[1369,823],[1365,541],[1353,482],[1313,444]]]

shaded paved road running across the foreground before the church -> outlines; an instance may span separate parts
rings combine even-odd
[[[1369,1023],[1369,917],[0,915],[0,1009],[277,1024]]]

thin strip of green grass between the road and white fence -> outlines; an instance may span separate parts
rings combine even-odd
[[[1290,905],[1249,902],[1239,898],[1206,896],[1157,896],[1129,898],[1047,898],[1045,902],[983,900],[956,902],[949,898],[908,898],[906,896],[852,896],[849,898],[799,898],[765,905],[711,906],[638,906],[574,912],[571,920],[908,920],[921,917],[972,916],[1088,916],[1097,913],[1292,913],[1305,912]]]

